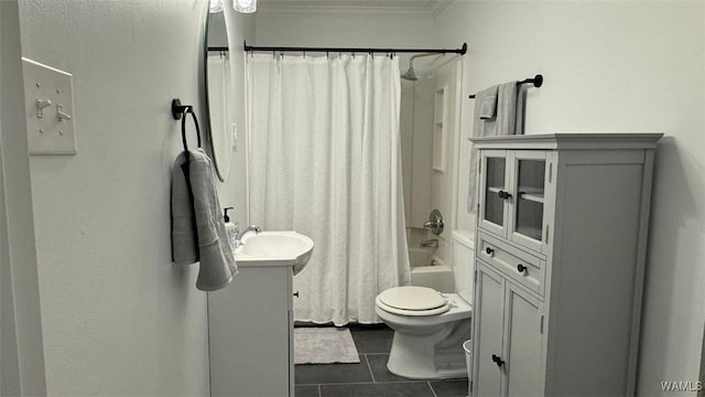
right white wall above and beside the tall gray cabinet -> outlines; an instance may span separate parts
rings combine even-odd
[[[456,0],[435,22],[437,45],[468,43],[465,97],[544,75],[544,86],[529,94],[527,133],[666,135],[657,154],[638,395],[661,395],[660,380],[697,380],[705,319],[705,3]],[[464,108],[466,133],[473,106],[468,100]]]

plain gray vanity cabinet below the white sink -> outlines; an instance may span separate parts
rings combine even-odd
[[[242,266],[208,292],[210,395],[294,395],[292,266]]]

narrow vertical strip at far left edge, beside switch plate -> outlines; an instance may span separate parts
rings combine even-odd
[[[43,396],[46,383],[24,133],[20,14],[0,1],[0,396]]]

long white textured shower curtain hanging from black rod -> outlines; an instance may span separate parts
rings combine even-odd
[[[410,283],[398,58],[247,57],[250,221],[315,244],[294,316],[379,322],[377,294]]]

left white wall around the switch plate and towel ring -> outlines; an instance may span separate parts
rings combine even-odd
[[[31,158],[50,395],[209,394],[206,294],[171,262],[169,211],[207,2],[20,4],[23,55],[74,75],[78,154]]]

